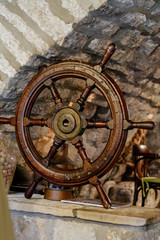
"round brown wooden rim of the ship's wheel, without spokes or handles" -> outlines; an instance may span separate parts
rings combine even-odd
[[[52,77],[55,81],[64,76],[76,76],[79,78],[90,78],[100,87],[105,99],[108,102],[114,125],[118,128],[111,130],[109,140],[102,154],[94,161],[91,169],[79,171],[74,170],[71,173],[64,173],[60,170],[50,170],[41,164],[42,157],[38,154],[31,139],[28,127],[24,127],[24,117],[31,113],[31,101],[35,102],[39,92],[43,91],[44,83]],[[107,88],[106,88],[107,86]],[[108,96],[109,95],[109,96]],[[119,114],[115,112],[118,110]],[[118,159],[123,150],[127,138],[127,131],[123,130],[123,120],[128,119],[128,111],[121,90],[108,75],[97,72],[93,66],[80,62],[61,62],[53,64],[41,73],[37,74],[24,89],[17,107],[16,136],[20,151],[31,169],[38,172],[47,181],[63,186],[76,186],[88,182],[88,179],[94,175],[103,176],[108,172]],[[118,136],[118,139],[115,137]],[[26,139],[27,138],[27,139]],[[111,143],[111,139],[114,143]],[[113,147],[114,146],[114,147]],[[111,147],[111,150],[109,148]],[[108,152],[107,152],[108,151]],[[114,153],[113,153],[114,151]],[[106,157],[107,155],[107,157]],[[90,174],[88,174],[90,172]]]

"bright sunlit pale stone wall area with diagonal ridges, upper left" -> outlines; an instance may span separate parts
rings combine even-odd
[[[33,54],[43,54],[53,44],[62,45],[73,23],[98,8],[104,0],[1,0],[0,91],[26,65]]]

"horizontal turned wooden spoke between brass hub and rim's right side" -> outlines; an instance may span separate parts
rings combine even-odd
[[[87,127],[86,128],[107,128],[112,130],[113,129],[113,119],[109,121],[90,121],[87,120]]]

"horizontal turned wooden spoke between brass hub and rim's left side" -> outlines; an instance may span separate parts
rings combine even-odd
[[[24,127],[31,127],[31,126],[41,126],[41,127],[49,127],[52,128],[52,119],[47,118],[47,119],[33,119],[33,118],[24,118]]]

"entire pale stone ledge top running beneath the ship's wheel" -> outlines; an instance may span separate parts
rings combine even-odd
[[[145,226],[160,221],[160,209],[142,207],[123,207],[103,209],[77,204],[49,201],[41,195],[34,195],[32,199],[25,199],[23,194],[8,195],[10,210],[50,214],[59,217],[73,217],[77,219],[97,221],[130,226]]]

